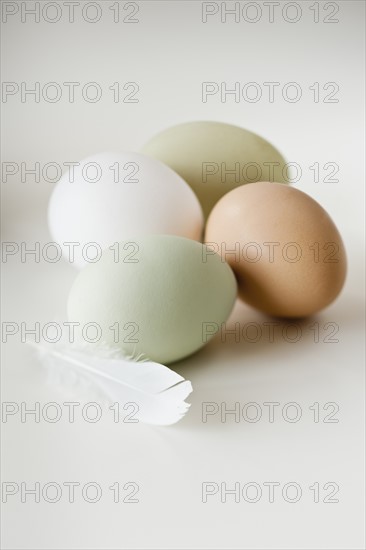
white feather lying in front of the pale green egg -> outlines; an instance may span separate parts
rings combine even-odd
[[[135,403],[138,411],[133,418],[140,422],[175,424],[190,407],[185,399],[192,392],[191,382],[159,363],[116,357],[105,350],[96,356],[70,345],[29,343],[41,352],[42,362],[48,368],[71,368],[87,375],[121,409],[126,403]]]

